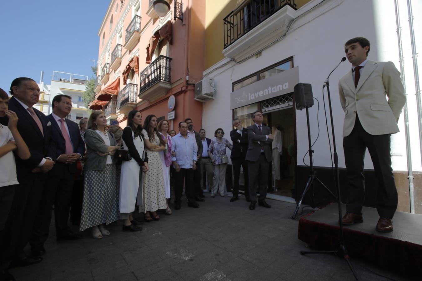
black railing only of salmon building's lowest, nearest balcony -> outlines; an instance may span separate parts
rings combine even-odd
[[[139,75],[141,78],[139,93],[158,82],[171,83],[171,60],[167,56],[160,55],[146,69],[142,70]]]

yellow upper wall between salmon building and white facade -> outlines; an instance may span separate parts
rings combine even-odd
[[[296,8],[300,8],[310,0],[295,0]],[[206,0],[205,11],[205,69],[212,67],[224,59],[222,54],[223,19],[233,11],[237,0]]]

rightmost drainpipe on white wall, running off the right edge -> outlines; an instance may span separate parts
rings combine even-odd
[[[418,112],[418,121],[419,121],[419,147],[421,153],[421,163],[422,163],[422,107],[421,107],[421,90],[419,88],[419,72],[418,72],[418,61],[416,53],[416,44],[415,44],[415,32],[413,29],[413,14],[412,14],[412,3],[410,0],[407,0],[407,11],[409,16],[409,28],[410,28],[410,43],[412,46],[412,59],[413,59],[413,72],[415,79],[415,88],[416,88],[416,105]]]

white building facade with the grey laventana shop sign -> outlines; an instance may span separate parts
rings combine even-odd
[[[391,138],[392,169],[396,185],[398,185],[398,210],[410,211],[407,162],[411,161],[415,177],[414,202],[412,203],[414,203],[415,212],[422,214],[422,163],[408,8],[406,1],[400,0],[398,3],[401,43],[405,58],[404,72],[411,143],[411,147],[407,149],[411,150],[411,160],[407,157],[405,118],[402,112],[398,122],[400,132],[392,135]],[[422,50],[422,20],[420,18],[422,2],[411,1],[411,3],[416,35],[414,43],[420,52]],[[244,14],[247,12],[247,7],[249,6],[243,8]],[[214,99],[203,104],[203,128],[210,132],[207,135],[211,136],[211,132],[222,127],[226,133],[225,137],[230,139],[229,132],[233,129],[231,122],[233,118],[240,118],[243,126],[246,127],[252,123],[252,112],[262,110],[265,115],[264,123],[270,126],[275,125],[283,134],[284,156],[282,154],[280,157],[281,165],[285,167],[281,171],[281,181],[274,179],[275,172],[273,171],[273,188],[294,186],[292,193],[277,193],[275,190],[273,194],[281,196],[278,197],[281,200],[291,201],[291,198],[297,200],[308,179],[309,157],[306,113],[304,110],[295,109],[293,87],[298,82],[311,83],[313,96],[319,101],[319,113],[317,101],[314,100],[314,106],[309,108],[312,143],[318,136],[312,147],[313,164],[319,173],[317,176],[330,189],[333,189],[332,134],[326,89],[324,98],[328,134],[325,125],[322,85],[327,75],[345,56],[344,43],[353,37],[366,37],[370,40],[371,50],[368,59],[392,61],[400,70],[395,1],[311,0],[298,10],[286,5],[263,19],[241,37],[233,39],[233,32],[225,33],[227,40],[222,51],[225,59],[203,73],[203,78],[214,79],[216,90]],[[221,24],[223,25],[223,20]],[[244,28],[248,26],[246,19],[243,24],[245,24]],[[226,26],[224,28],[226,30]],[[420,60],[418,66],[421,69]],[[351,64],[347,61],[343,62],[330,76],[342,198],[345,198],[346,185],[342,146],[344,111],[338,95],[338,80],[350,69]],[[289,154],[286,155],[286,153]],[[227,151],[227,154],[230,157],[230,151]],[[369,153],[366,153],[365,169],[368,169],[365,170],[366,186],[376,184]],[[317,187],[317,185],[315,187],[316,197],[327,195],[322,187]],[[368,189],[365,204],[373,206],[372,195],[372,191]],[[334,200],[334,198],[331,199]]]

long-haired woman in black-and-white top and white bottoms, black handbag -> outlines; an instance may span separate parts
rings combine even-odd
[[[136,226],[138,221],[133,219],[136,198],[141,204],[143,172],[148,171],[148,158],[142,139],[142,115],[138,110],[132,110],[127,116],[127,127],[123,129],[123,149],[128,150],[130,161],[122,161],[120,174],[119,211],[120,219],[124,220],[123,231],[139,231],[142,227]]]

